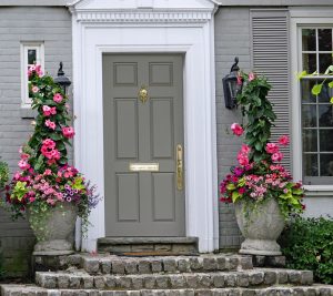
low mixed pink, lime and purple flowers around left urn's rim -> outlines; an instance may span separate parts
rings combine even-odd
[[[17,172],[6,190],[6,200],[17,216],[29,206],[42,208],[58,203],[74,203],[79,215],[85,215],[100,200],[95,187],[90,187],[82,174],[69,165],[59,167],[57,173],[47,169],[40,174],[31,167]]]

